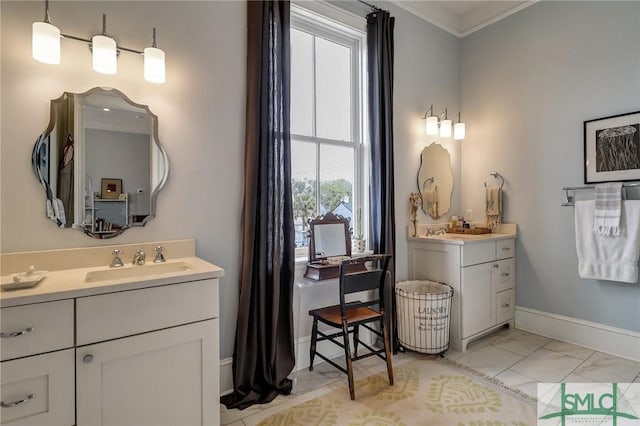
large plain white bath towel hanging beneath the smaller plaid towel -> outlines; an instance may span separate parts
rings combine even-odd
[[[622,231],[616,238],[593,232],[595,200],[576,201],[576,250],[582,278],[638,282],[640,200],[622,203]]]

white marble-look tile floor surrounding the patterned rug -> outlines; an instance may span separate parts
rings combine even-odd
[[[405,352],[394,356],[393,362],[394,365],[401,365],[415,358],[429,356]],[[470,343],[464,353],[451,350],[446,356],[534,397],[538,382],[640,383],[638,362],[517,329],[501,329]],[[354,363],[356,380],[384,371],[384,368],[384,362],[377,357],[358,361]],[[307,369],[299,371],[292,394],[279,396],[270,404],[242,411],[221,406],[221,424],[257,425],[280,410],[346,385],[346,375],[326,363],[319,364],[313,372]]]

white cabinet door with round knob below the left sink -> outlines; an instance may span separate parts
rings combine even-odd
[[[76,349],[86,425],[219,424],[218,320]]]

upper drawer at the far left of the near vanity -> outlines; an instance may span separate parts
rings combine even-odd
[[[73,300],[0,309],[1,359],[73,346]]]

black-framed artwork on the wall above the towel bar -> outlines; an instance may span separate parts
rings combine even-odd
[[[584,182],[640,180],[640,111],[584,122]]]

